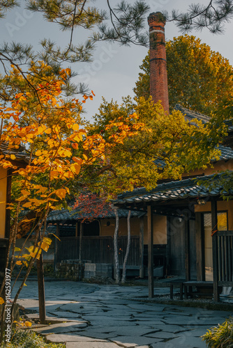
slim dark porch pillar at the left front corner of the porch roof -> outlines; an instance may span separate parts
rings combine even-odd
[[[149,299],[153,297],[153,212],[147,205],[147,235],[148,235],[148,290]]]

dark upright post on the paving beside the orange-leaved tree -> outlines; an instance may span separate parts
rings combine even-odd
[[[39,299],[39,317],[40,324],[45,323],[45,281],[43,269],[43,256],[40,254],[40,259],[36,260],[37,264],[37,278],[38,278],[38,299]]]

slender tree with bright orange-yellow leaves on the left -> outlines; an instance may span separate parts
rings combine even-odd
[[[10,93],[16,92],[10,102],[0,107],[0,148],[1,144],[8,147],[8,154],[0,156],[0,164],[10,169],[13,180],[16,178],[13,202],[7,207],[12,212],[13,223],[6,264],[11,273],[16,265],[21,270],[26,269],[13,307],[33,262],[40,258],[42,250],[47,251],[50,246],[51,239],[45,235],[47,214],[51,209],[66,205],[70,182],[77,177],[81,182],[84,173],[95,166],[96,161],[106,161],[116,145],[144,129],[142,122],[137,122],[137,116],[130,115],[121,122],[110,122],[105,126],[105,132],[114,127],[114,139],[112,135],[104,139],[101,134],[87,134],[81,126],[80,113],[82,104],[92,96],[64,100],[62,87],[69,74],[70,70],[66,69],[55,75],[49,65],[39,62],[31,63],[26,77],[22,77],[15,66],[5,77],[8,88],[12,89]],[[27,152],[25,168],[18,168],[14,162],[14,152],[20,147]],[[27,225],[27,239],[33,237],[30,248],[24,248],[26,242],[21,249],[15,248],[22,223]],[[1,301],[4,301],[3,289],[4,282],[0,289]],[[4,304],[1,306],[1,319]],[[3,325],[3,320],[1,323]]]

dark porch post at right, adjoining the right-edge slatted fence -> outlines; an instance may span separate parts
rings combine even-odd
[[[218,230],[218,212],[217,200],[211,200],[211,228],[212,228],[212,252],[213,252],[213,300],[219,301],[218,291],[218,237],[216,231]]]

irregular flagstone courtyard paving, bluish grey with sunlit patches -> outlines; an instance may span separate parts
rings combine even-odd
[[[155,289],[155,294],[168,292]],[[67,348],[204,348],[200,335],[232,314],[133,301],[148,296],[140,286],[54,281],[45,283],[45,296],[47,317],[61,322],[35,330]],[[37,298],[37,283],[28,281],[19,303],[38,311]]]

